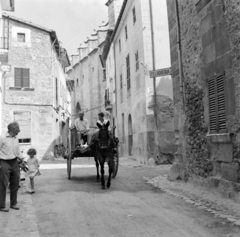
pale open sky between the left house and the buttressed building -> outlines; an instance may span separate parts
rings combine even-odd
[[[107,22],[107,0],[15,0],[15,11],[9,15],[22,18],[56,31],[68,55]]]

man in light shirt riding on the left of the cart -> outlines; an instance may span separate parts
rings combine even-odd
[[[75,120],[74,123],[77,129],[77,142],[78,145],[81,143],[83,139],[84,144],[88,142],[88,132],[89,132],[89,124],[88,120],[84,118],[84,113],[79,112],[79,118]]]

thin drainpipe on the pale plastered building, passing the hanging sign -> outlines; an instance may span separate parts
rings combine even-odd
[[[154,41],[152,0],[149,0],[149,8],[150,8],[149,10],[150,10],[151,40],[152,40],[152,63],[153,63],[153,70],[155,70],[156,69],[156,67],[155,67],[156,58],[155,58],[155,41]],[[153,90],[154,90],[154,116],[155,116],[156,128],[158,130],[156,77],[153,78]]]

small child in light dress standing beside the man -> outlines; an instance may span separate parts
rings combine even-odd
[[[27,164],[28,164],[28,177],[30,178],[30,189],[29,189],[29,193],[34,193],[34,177],[35,176],[39,176],[40,171],[39,171],[39,161],[38,159],[35,157],[35,155],[37,154],[36,150],[34,148],[31,148],[28,150],[27,154],[29,155],[29,158],[27,160]]]

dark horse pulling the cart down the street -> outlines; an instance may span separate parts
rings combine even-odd
[[[99,180],[99,164],[101,171],[101,185],[105,189],[104,179],[104,163],[108,163],[109,175],[107,181],[107,188],[111,186],[111,177],[113,173],[113,139],[108,131],[108,126],[102,126],[99,131],[93,136],[91,141],[91,150],[97,167],[97,180]]]

